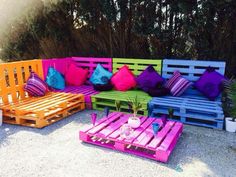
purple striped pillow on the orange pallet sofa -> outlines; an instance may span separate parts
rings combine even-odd
[[[28,92],[30,96],[38,97],[46,94],[48,86],[36,73],[31,72],[24,90]]]

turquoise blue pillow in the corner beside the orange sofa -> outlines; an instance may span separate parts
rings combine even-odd
[[[48,69],[46,82],[48,86],[54,89],[62,90],[65,88],[65,79],[63,78],[61,73],[59,73],[57,70],[55,70],[52,67]]]

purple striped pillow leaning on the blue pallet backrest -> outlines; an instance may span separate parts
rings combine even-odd
[[[165,87],[170,90],[173,96],[181,96],[191,85],[192,82],[183,78],[179,71],[175,71],[166,82]]]

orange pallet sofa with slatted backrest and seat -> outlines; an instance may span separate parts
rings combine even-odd
[[[43,78],[42,60],[0,64],[0,109],[3,122],[43,128],[85,109],[82,94],[48,92],[31,97],[24,91],[30,72]]]

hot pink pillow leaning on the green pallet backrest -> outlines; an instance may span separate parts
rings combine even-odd
[[[136,86],[135,76],[126,65],[112,76],[111,83],[119,91],[127,91]]]

